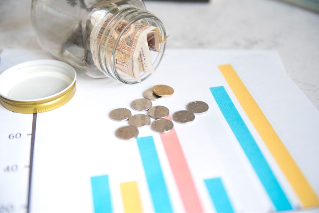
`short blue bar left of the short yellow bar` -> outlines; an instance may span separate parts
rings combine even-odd
[[[108,175],[91,177],[94,212],[112,212]]]

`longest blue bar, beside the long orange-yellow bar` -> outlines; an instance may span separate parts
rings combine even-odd
[[[277,211],[292,209],[274,173],[271,171],[225,88],[223,86],[211,87],[210,90]]]

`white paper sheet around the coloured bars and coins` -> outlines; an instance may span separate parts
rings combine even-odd
[[[5,49],[0,72],[20,62],[45,58],[51,56],[43,51]],[[191,124],[174,122],[205,212],[216,212],[204,184],[204,179],[215,177],[222,179],[234,211],[276,210],[209,90],[215,86],[225,87],[293,210],[303,209],[298,195],[217,67],[228,63],[319,196],[319,112],[286,75],[275,51],[168,49],[157,73],[142,84],[125,85],[78,73],[77,91],[70,102],[37,114],[30,210],[93,212],[90,178],[108,174],[114,212],[124,211],[119,184],[127,181],[137,181],[143,211],[154,212],[136,140],[123,141],[115,136],[115,130],[128,122],[112,121],[108,113],[118,107],[126,107],[132,114],[140,113],[130,108],[130,102],[143,98],[142,93],[155,84],[174,88],[173,96],[153,101],[153,106],[169,108],[171,116],[186,109],[193,100],[205,101],[210,107],[207,113],[196,115]],[[13,212],[20,212],[27,202],[30,153],[27,134],[31,133],[32,115],[12,113],[0,106],[0,117],[0,208],[12,205]],[[9,139],[10,134],[17,133],[22,137]],[[139,129],[138,137],[144,136],[153,136],[173,211],[186,211],[159,134],[148,126]],[[8,165],[18,165],[18,172],[4,171]]]

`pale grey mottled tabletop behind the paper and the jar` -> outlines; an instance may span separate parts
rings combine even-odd
[[[28,0],[0,0],[0,48],[40,48]],[[275,49],[319,109],[319,15],[276,0],[147,1],[166,26],[167,48]]]

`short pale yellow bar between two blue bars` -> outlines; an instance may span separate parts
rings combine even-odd
[[[126,213],[143,212],[137,182],[120,183],[124,210]]]

